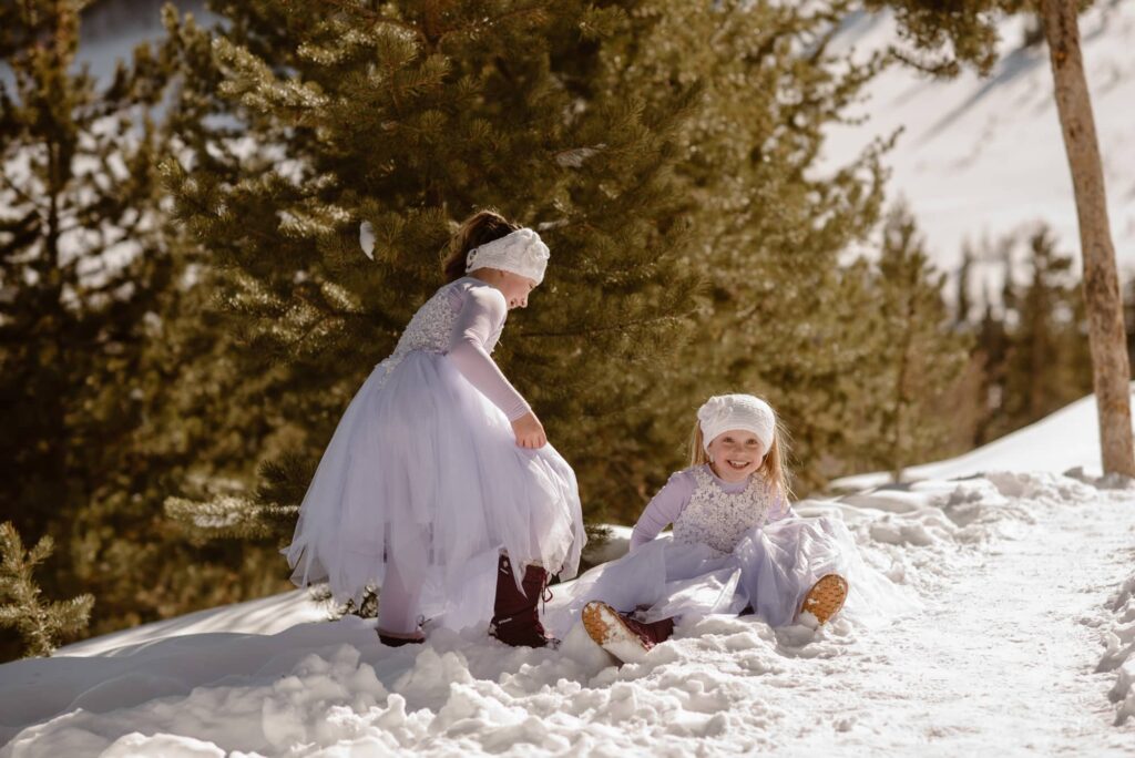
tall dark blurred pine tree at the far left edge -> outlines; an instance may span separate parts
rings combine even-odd
[[[90,446],[114,445],[129,427],[128,398],[107,407],[102,379],[128,361],[141,314],[132,295],[167,275],[151,259],[145,116],[160,76],[145,48],[104,93],[69,73],[81,5],[0,11],[0,56],[15,78],[11,91],[0,83],[0,506],[24,532],[43,532],[59,507],[89,497],[99,477]],[[133,264],[119,262],[132,254]]]

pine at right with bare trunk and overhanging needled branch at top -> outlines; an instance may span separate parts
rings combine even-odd
[[[1083,292],[1087,296],[1085,312],[1103,469],[1107,473],[1135,477],[1130,367],[1119,275],[1108,221],[1100,146],[1081,54],[1078,14],[1084,3],[1076,0],[975,0],[962,8],[938,0],[869,0],[866,6],[893,9],[901,36],[915,48],[914,51],[896,49],[894,53],[920,70],[941,76],[956,75],[961,65],[987,74],[997,62],[998,23],[1015,14],[1039,17],[1048,42],[1053,96],[1079,220]]]

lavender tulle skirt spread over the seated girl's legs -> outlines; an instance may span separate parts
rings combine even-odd
[[[771,626],[797,622],[805,595],[824,574],[848,580],[842,615],[875,625],[918,607],[917,600],[864,563],[855,538],[832,516],[789,517],[753,529],[733,551],[683,545],[665,536],[555,588],[547,625],[566,634],[590,600],[646,621],[735,615],[747,607]]]

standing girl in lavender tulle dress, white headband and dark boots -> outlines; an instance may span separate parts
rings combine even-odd
[[[508,645],[548,643],[537,604],[574,575],[586,540],[575,475],[490,357],[508,310],[544,280],[532,229],[481,211],[451,242],[448,284],[347,406],[283,550],[303,587],[358,605],[380,587],[378,634],[421,642],[422,614],[489,621]]]

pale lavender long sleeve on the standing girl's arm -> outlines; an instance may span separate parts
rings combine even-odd
[[[449,336],[448,356],[469,384],[501,409],[510,421],[515,421],[531,407],[485,349],[507,314],[508,305],[498,289],[469,288]]]

